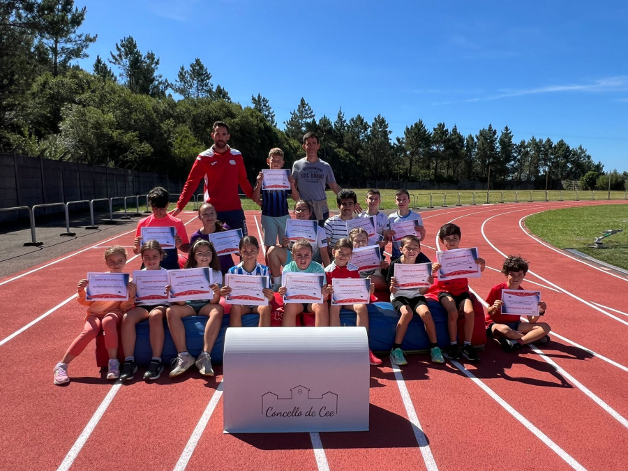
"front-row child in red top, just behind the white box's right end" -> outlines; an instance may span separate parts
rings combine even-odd
[[[338,240],[334,246],[333,253],[334,261],[325,267],[327,287],[330,289],[330,293],[333,292],[331,286],[334,278],[360,278],[358,268],[349,263],[351,254],[353,253],[353,244],[349,239]],[[371,294],[373,291],[375,291],[375,285],[371,283]],[[345,304],[344,307],[355,313],[355,324],[357,327],[364,327],[368,332],[368,311],[366,311],[366,304]],[[329,306],[330,327],[340,327],[340,310],[341,306]],[[370,348],[368,349],[368,359],[371,365],[377,366],[382,364],[382,360],[375,357]]]

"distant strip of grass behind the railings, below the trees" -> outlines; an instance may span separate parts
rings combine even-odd
[[[364,200],[366,199],[366,191],[368,188],[351,188],[358,196],[358,202],[364,206]],[[454,206],[458,204],[458,195],[460,196],[460,204],[471,204],[475,202],[477,204],[486,203],[486,191],[456,191],[456,190],[409,190],[410,198],[413,202],[414,208],[426,209],[428,207],[442,207],[444,205]],[[395,209],[395,190],[380,190],[382,193],[382,209]],[[431,195],[431,203],[430,203]],[[577,198],[576,198],[577,196]],[[625,200],[628,194],[625,191],[611,191],[611,200]],[[575,191],[558,191],[552,190],[547,192],[548,201],[560,201],[560,200],[608,200],[608,192],[606,191],[578,191],[576,195]],[[247,197],[241,196],[242,207],[245,210],[248,209],[260,209],[257,204],[249,200]],[[528,201],[545,201],[544,190],[524,190],[524,191],[491,191],[488,193],[489,203],[500,202],[528,202]],[[336,208],[336,195],[331,191],[327,191],[327,203],[329,207]],[[189,203],[186,206],[187,210],[194,209],[194,204]]]

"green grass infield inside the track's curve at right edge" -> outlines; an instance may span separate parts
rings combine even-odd
[[[553,209],[525,219],[532,234],[558,248],[575,248],[615,267],[628,270],[628,206]],[[608,229],[624,232],[604,239],[605,248],[590,248],[596,237]]]

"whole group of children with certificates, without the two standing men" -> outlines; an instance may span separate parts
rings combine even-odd
[[[283,152],[281,149],[272,149],[267,160],[271,169],[283,167]],[[357,217],[369,218],[374,216],[377,237],[369,239],[368,233],[362,228],[355,228],[347,233],[347,220],[353,219],[354,207],[357,206],[357,195],[352,190],[341,190],[337,195],[337,204],[340,214],[331,216],[324,222],[324,227],[317,228],[314,242],[306,239],[290,241],[285,237],[286,220],[290,218],[287,197],[296,200],[294,204],[294,218],[310,220],[313,218],[313,207],[310,202],[299,199],[294,181],[290,178],[291,190],[261,190],[262,174],[257,178],[254,189],[254,200],[262,206],[263,242],[267,248],[267,265],[257,262],[260,253],[260,244],[252,236],[245,236],[239,243],[239,264],[234,264],[231,255],[218,256],[211,244],[210,235],[214,232],[229,230],[216,217],[216,210],[211,204],[202,204],[198,209],[198,219],[202,227],[193,233],[188,241],[185,227],[181,220],[167,213],[169,195],[164,188],[154,188],[148,195],[152,209],[151,216],[140,220],[137,225],[133,252],[142,258],[142,269],[165,270],[179,269],[179,255],[177,251],[188,253],[184,268],[209,267],[213,271],[211,290],[214,296],[211,299],[197,301],[163,302],[156,305],[135,304],[136,286],[131,280],[128,283],[128,301],[87,301],[85,288],[87,280],[82,279],[77,286],[77,300],[87,306],[87,316],[81,334],[68,347],[61,361],[54,367],[54,384],[69,382],[68,364],[100,331],[105,333],[105,347],[109,354],[107,379],[130,380],[137,372],[137,365],[133,352],[135,350],[135,324],[142,320],[149,320],[149,339],[152,350],[151,362],[144,373],[145,380],[156,380],[163,372],[161,353],[164,342],[163,321],[166,320],[172,340],[177,348],[177,357],[172,360],[170,377],[176,377],[188,370],[193,364],[202,375],[214,375],[211,366],[210,352],[222,324],[224,308],[220,298],[231,292],[229,286],[223,285],[223,274],[269,276],[271,288],[263,290],[268,299],[266,306],[233,305],[230,308],[230,327],[241,327],[241,318],[248,313],[257,313],[260,316],[260,327],[269,327],[271,324],[270,301],[277,292],[284,296],[287,287],[281,285],[282,272],[300,272],[324,274],[325,283],[321,288],[322,303],[289,303],[283,306],[282,325],[291,327],[297,324],[300,313],[313,313],[316,326],[339,326],[340,306],[330,306],[329,298],[333,292],[334,278],[369,278],[371,280],[371,294],[378,292],[390,293],[390,301],[399,313],[396,325],[394,345],[390,352],[391,363],[405,365],[407,361],[401,350],[401,343],[408,330],[408,325],[414,314],[421,318],[430,343],[431,361],[443,363],[443,353],[438,347],[436,328],[433,317],[428,308],[428,297],[440,302],[447,311],[447,327],[449,333],[449,347],[447,356],[450,359],[459,359],[461,356],[468,361],[477,362],[479,357],[471,345],[474,329],[474,308],[469,292],[467,278],[442,281],[436,274],[440,269],[438,262],[431,260],[421,252],[421,241],[426,235],[421,215],[410,209],[410,194],[408,190],[398,190],[395,193],[395,204],[398,210],[387,216],[379,211],[381,194],[379,190],[368,190],[366,195],[367,209]],[[405,237],[395,237],[391,223],[414,221],[414,234]],[[142,244],[142,227],[174,227],[175,247],[164,250],[157,241],[149,240]],[[461,230],[455,224],[448,223],[438,232],[438,238],[445,251],[459,248]],[[277,242],[279,241],[279,244]],[[350,262],[354,248],[377,244],[382,249],[392,242],[391,262],[382,260],[380,267],[370,271],[359,271]],[[105,264],[112,273],[121,273],[127,260],[126,249],[121,246],[112,246],[105,251]],[[475,260],[481,271],[484,271],[485,262]],[[428,287],[399,287],[394,277],[396,264],[432,263],[431,276],[428,277]],[[528,264],[521,257],[508,257],[504,262],[502,273],[507,281],[495,285],[486,301],[486,333],[496,338],[504,350],[517,350],[521,345],[530,342],[548,341],[550,328],[544,322],[538,322],[538,316],[528,317],[528,322],[520,322],[518,315],[501,313],[501,291],[503,289],[523,289],[521,283],[528,271]],[[166,286],[165,290],[170,287]],[[366,304],[343,306],[356,313],[356,324],[365,327],[368,331],[368,311]],[[540,313],[546,310],[545,303],[539,304]],[[194,359],[186,347],[186,332],[182,322],[183,317],[190,315],[204,315],[208,317],[204,330],[203,350],[197,359]],[[458,348],[458,317],[464,317],[463,347]],[[124,351],[124,364],[120,367],[118,360],[117,328],[121,324],[121,343]],[[369,359],[372,365],[382,363],[369,350]]]

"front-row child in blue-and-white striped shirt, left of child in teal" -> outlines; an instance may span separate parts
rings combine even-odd
[[[252,276],[269,276],[268,267],[257,262],[257,254],[260,253],[260,243],[253,236],[244,236],[240,240],[238,246],[242,261],[237,267],[231,267],[229,274],[232,275],[252,275]],[[223,286],[220,294],[227,297],[232,288]],[[269,287],[262,290],[264,297],[268,301],[273,299],[273,290]],[[228,301],[227,301],[228,302]],[[260,315],[260,327],[270,327],[270,303],[266,306],[243,306],[241,304],[232,304],[229,314],[229,327],[242,327],[242,315],[257,313]]]

